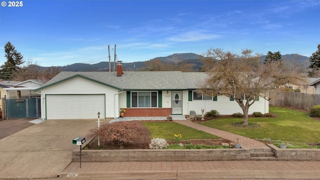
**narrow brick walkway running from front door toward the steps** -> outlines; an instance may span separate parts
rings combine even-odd
[[[224,139],[231,140],[233,142],[236,142],[236,138],[239,138],[239,143],[247,148],[268,148],[264,143],[259,142],[257,140],[244,137],[242,135],[237,135],[231,132],[226,132],[223,130],[207,127],[198,123],[193,123],[190,119],[186,120],[173,120],[174,122],[195,128],[197,130],[202,130],[204,132],[217,135],[219,137],[222,137]]]

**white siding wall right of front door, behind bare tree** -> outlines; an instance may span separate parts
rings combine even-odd
[[[217,110],[221,115],[231,115],[235,112],[243,113],[242,109],[236,101],[230,101],[227,96],[217,96],[217,101],[213,100],[193,100],[188,101],[188,91],[183,91],[183,114],[189,114],[190,110],[194,110],[196,114],[201,114],[201,108],[204,108],[204,113],[212,109]],[[258,101],[255,101],[249,107],[249,114],[254,111],[259,111],[261,113],[268,112],[268,101],[260,97]]]

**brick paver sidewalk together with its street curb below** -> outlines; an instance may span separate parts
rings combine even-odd
[[[319,161],[79,162],[63,179],[320,179]],[[77,177],[77,178],[75,178]]]

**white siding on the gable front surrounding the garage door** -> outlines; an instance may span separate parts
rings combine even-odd
[[[116,93],[118,90],[112,87],[82,77],[75,77],[41,90],[41,116],[45,118],[44,94],[105,94],[105,117],[114,117],[114,109],[118,111]]]

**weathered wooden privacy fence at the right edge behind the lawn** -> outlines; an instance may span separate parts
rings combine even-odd
[[[269,100],[270,105],[284,105],[293,108],[311,110],[313,105],[320,104],[320,94],[307,94],[300,92],[270,92],[270,96],[272,97]]]

